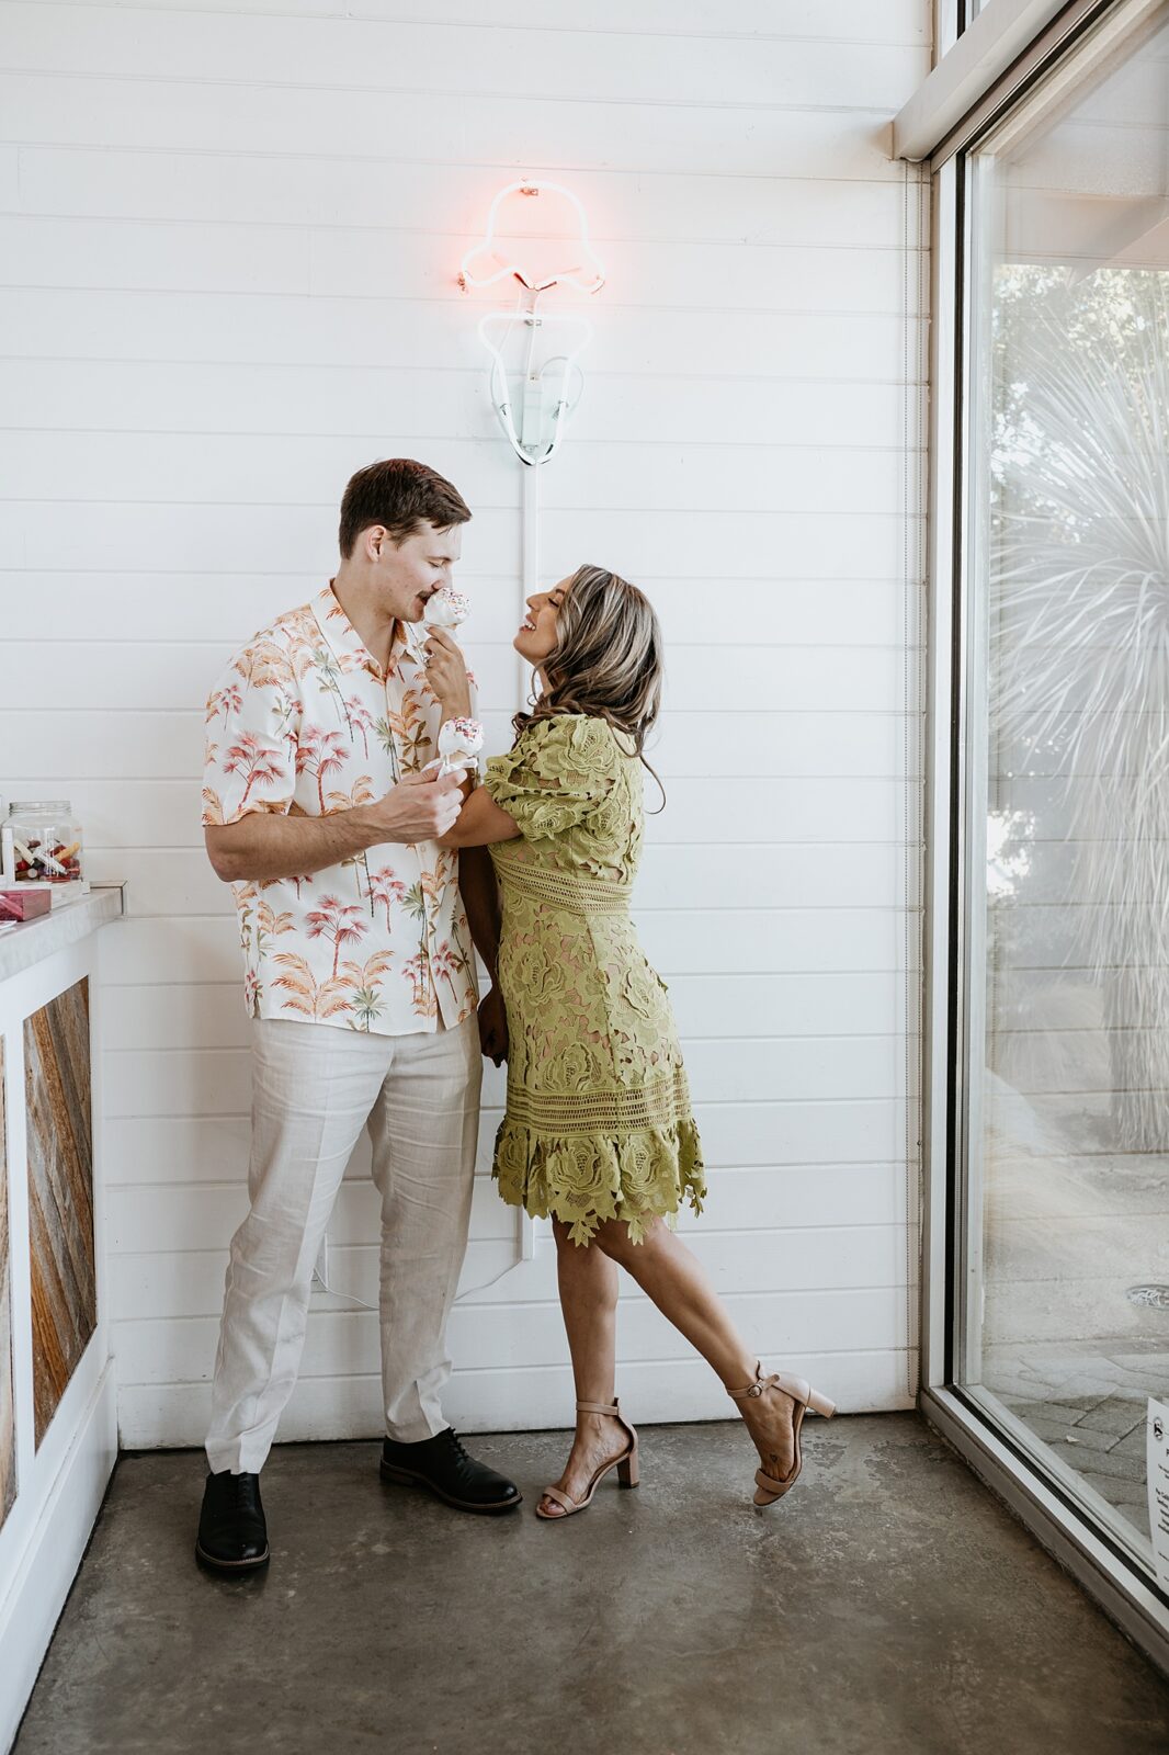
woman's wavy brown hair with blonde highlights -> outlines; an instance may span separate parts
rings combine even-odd
[[[556,611],[556,634],[539,667],[544,688],[530,713],[511,721],[516,735],[556,713],[606,720],[632,741],[632,753],[658,781],[665,802],[665,788],[644,755],[662,707],[662,628],[653,604],[607,567],[577,567]]]

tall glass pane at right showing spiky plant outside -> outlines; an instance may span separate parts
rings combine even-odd
[[[1169,9],[960,167],[953,1381],[1151,1571],[1169,1400]]]

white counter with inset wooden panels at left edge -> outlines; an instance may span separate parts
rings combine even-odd
[[[98,928],[123,913],[100,885],[0,932],[0,1750],[118,1455]]]

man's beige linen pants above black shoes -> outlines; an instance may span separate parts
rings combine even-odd
[[[476,1018],[434,1035],[253,1023],[251,1211],[232,1237],[207,1460],[256,1474],[297,1383],[337,1188],[369,1123],[381,1193],[386,1432],[446,1427],[446,1320],[467,1250],[483,1060]]]

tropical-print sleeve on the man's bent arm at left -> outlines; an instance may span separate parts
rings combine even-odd
[[[283,816],[297,790],[298,690],[286,653],[246,648],[207,700],[204,828]]]

